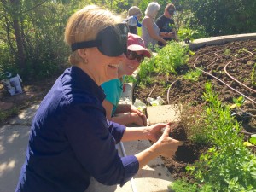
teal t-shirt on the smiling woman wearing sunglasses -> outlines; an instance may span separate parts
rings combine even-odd
[[[106,100],[113,104],[112,116],[115,112],[123,92],[123,82],[120,79],[112,79],[102,84]]]

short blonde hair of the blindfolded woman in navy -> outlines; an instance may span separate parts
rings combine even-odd
[[[113,15],[107,9],[102,9],[96,5],[86,6],[68,19],[65,29],[65,42],[71,46],[74,43],[94,40],[102,29],[121,21],[120,16]],[[78,51],[74,51],[69,56],[69,61],[76,65],[84,60],[79,56]]]

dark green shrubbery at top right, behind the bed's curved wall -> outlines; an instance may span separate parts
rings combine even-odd
[[[183,9],[191,10],[196,26],[205,26],[210,36],[255,32],[254,0],[180,0]],[[193,17],[192,17],[193,18]]]

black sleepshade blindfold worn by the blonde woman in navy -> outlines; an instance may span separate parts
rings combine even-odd
[[[108,26],[97,34],[96,40],[71,45],[72,51],[97,47],[103,55],[119,56],[127,51],[128,27],[126,23]]]

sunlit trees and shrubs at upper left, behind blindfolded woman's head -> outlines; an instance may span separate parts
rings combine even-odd
[[[1,1],[0,73],[19,73],[23,80],[44,79],[61,73],[70,54],[63,41],[67,19],[92,3],[123,13],[133,1]],[[20,65],[20,55],[24,55],[24,65]]]

